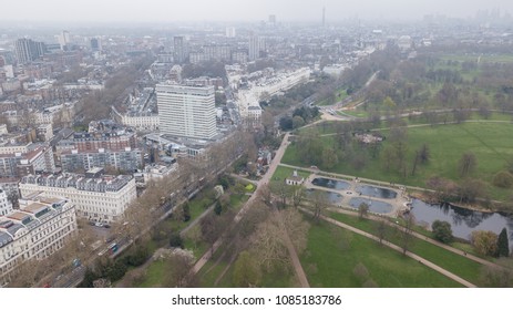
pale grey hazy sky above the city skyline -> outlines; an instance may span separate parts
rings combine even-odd
[[[7,4],[7,3],[6,3]],[[465,18],[478,10],[513,13],[512,0],[14,0],[2,7],[2,19],[27,21],[173,22],[421,19],[440,13]]]

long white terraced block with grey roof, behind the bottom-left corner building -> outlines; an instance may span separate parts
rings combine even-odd
[[[21,197],[37,194],[66,197],[76,206],[79,217],[104,223],[120,219],[137,196],[134,178],[126,175],[86,175],[25,176],[20,182]]]

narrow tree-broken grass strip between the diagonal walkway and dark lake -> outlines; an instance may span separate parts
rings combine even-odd
[[[360,220],[356,216],[349,216],[338,213],[331,213],[329,216],[341,223],[346,223],[350,226],[357,227],[363,231],[376,234],[373,228],[375,223],[372,220]],[[398,240],[393,234],[388,235],[389,241],[391,241],[392,244],[398,244]],[[425,240],[418,238],[414,238],[414,241],[412,242],[410,250],[472,283],[479,282],[480,270],[482,267],[481,264],[478,264],[461,255],[453,254],[451,251],[448,251],[443,248],[440,248],[435,245],[432,245],[430,242],[427,242]]]

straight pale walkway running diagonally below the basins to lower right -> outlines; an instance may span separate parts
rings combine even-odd
[[[314,213],[311,213],[310,210],[307,210],[307,209],[305,209],[305,208],[300,208],[300,209],[301,209],[302,211],[307,213],[307,214],[314,215]],[[375,236],[375,235],[371,235],[371,234],[369,234],[369,232],[366,232],[366,231],[363,231],[363,230],[360,230],[360,229],[355,228],[355,227],[352,227],[352,226],[349,226],[349,225],[347,225],[347,224],[340,223],[340,221],[335,220],[335,219],[332,219],[332,218],[329,218],[329,217],[327,217],[327,216],[322,216],[322,215],[321,215],[320,218],[324,219],[324,220],[326,220],[326,221],[328,221],[328,223],[331,223],[331,224],[334,224],[334,225],[336,225],[336,226],[338,226],[338,227],[341,227],[341,228],[351,230],[351,231],[355,232],[355,234],[361,235],[361,236],[363,236],[363,237],[370,238],[370,239],[372,239],[372,240],[379,242],[379,238],[378,238],[377,236]],[[397,246],[397,245],[394,245],[394,244],[391,244],[391,242],[389,242],[389,241],[387,241],[387,240],[382,240],[381,244],[384,245],[384,246],[387,246],[387,247],[389,247],[389,248],[391,248],[391,249],[393,249],[393,250],[397,250],[397,251],[399,251],[399,252],[402,254],[402,248],[400,248],[399,246]],[[460,278],[459,276],[456,276],[456,275],[454,275],[454,273],[448,271],[447,269],[443,269],[442,267],[440,267],[440,266],[438,266],[438,265],[435,265],[435,264],[433,264],[433,262],[431,262],[431,261],[429,261],[429,260],[427,260],[427,259],[424,259],[424,258],[422,258],[422,257],[420,257],[420,256],[418,256],[418,255],[415,255],[415,254],[412,254],[412,252],[410,252],[410,251],[407,251],[404,255],[408,256],[408,257],[410,257],[410,258],[413,258],[414,260],[419,261],[420,264],[425,265],[427,267],[429,267],[429,268],[431,268],[431,269],[433,269],[433,270],[435,270],[435,271],[438,271],[438,272],[444,275],[445,277],[448,277],[448,278],[450,278],[450,279],[452,279],[452,280],[454,280],[454,281],[456,281],[456,282],[459,282],[459,283],[461,283],[461,285],[468,287],[468,288],[475,288],[475,287],[476,287],[475,285],[473,285],[473,283],[471,283],[471,282],[469,282],[469,281],[466,281],[465,279]]]

